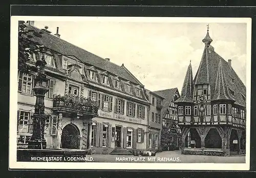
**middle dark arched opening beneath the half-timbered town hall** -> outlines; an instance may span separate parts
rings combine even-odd
[[[222,139],[216,128],[211,128],[205,139],[205,148],[222,148]]]

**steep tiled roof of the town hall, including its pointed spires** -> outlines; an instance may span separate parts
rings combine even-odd
[[[211,41],[209,40],[209,42]],[[192,73],[192,71],[190,70],[190,67],[188,67],[181,98],[176,100],[177,103],[193,100],[189,87],[191,86],[191,81],[188,80],[188,78],[191,79],[189,73]],[[205,45],[202,60],[194,79],[194,85],[196,84],[210,85],[211,100],[229,99],[234,100],[234,104],[246,106],[245,85],[228,62],[218,55],[211,45]]]

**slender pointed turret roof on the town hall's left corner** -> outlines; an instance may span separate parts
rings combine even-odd
[[[186,77],[181,90],[181,97],[176,102],[193,103],[193,73],[191,67],[191,61],[188,65]]]

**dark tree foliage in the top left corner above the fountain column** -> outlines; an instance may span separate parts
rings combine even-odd
[[[32,40],[35,37],[41,37],[44,32],[35,30],[27,30],[28,24],[25,21],[18,21],[18,70],[27,72],[29,66],[26,64],[29,61],[29,56],[34,53],[43,53],[45,46]]]

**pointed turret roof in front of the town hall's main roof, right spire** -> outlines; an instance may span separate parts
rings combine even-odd
[[[223,70],[222,59],[220,59],[220,62],[219,62],[217,78],[215,83],[216,83],[215,91],[214,91],[214,96],[212,97],[212,100],[219,100],[219,99],[233,100],[230,97],[228,92],[228,88],[227,88],[228,86],[225,78],[225,73]]]

